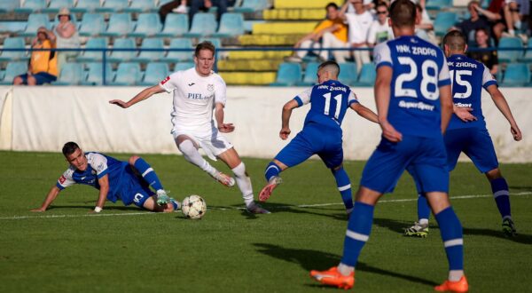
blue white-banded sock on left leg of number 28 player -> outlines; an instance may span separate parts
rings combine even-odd
[[[372,233],[374,209],[375,207],[372,205],[355,202],[344,240],[344,253],[343,257],[341,257],[342,264],[356,266],[360,250],[362,250]]]

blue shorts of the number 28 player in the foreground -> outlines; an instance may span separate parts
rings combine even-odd
[[[360,185],[381,194],[394,191],[403,170],[418,178],[421,192],[449,191],[443,139],[403,135],[398,143],[382,138],[366,163]]]

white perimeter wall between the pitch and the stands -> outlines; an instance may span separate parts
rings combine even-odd
[[[171,134],[171,95],[161,93],[129,109],[108,104],[129,100],[138,87],[0,87],[0,149],[60,152],[74,140],[85,150],[114,153],[178,154]],[[281,107],[304,88],[229,87],[227,134],[242,156],[271,158],[286,141],[278,138]],[[360,101],[375,109],[371,88],[355,88]],[[483,110],[501,162],[532,162],[532,89],[502,89],[524,139],[514,142],[510,126],[486,95]],[[309,107],[293,111],[293,136],[301,131]],[[380,129],[349,111],[343,123],[345,157],[366,160],[379,142]]]

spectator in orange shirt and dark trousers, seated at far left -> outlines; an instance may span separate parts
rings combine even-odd
[[[32,49],[55,48],[53,32],[44,27],[38,28],[37,36],[32,41],[31,47]],[[13,84],[40,85],[56,81],[58,76],[57,60],[55,51],[32,51],[27,73],[16,76],[13,79]]]

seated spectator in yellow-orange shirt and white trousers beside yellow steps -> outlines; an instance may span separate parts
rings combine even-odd
[[[309,49],[319,55],[321,61],[329,59],[329,51],[325,48],[346,48],[348,45],[348,26],[340,19],[339,7],[335,3],[325,6],[327,19],[321,21],[307,36],[303,36],[293,48]],[[289,62],[301,62],[309,51],[294,51],[293,56],[286,58]],[[338,63],[345,62],[348,51],[332,51],[332,56]]]

